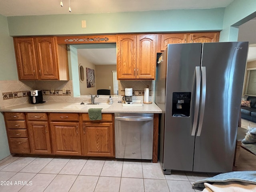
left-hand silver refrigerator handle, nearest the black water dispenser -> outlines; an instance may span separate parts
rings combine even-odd
[[[199,104],[200,104],[200,66],[196,66],[196,103],[195,103],[195,113],[191,136],[196,135],[196,126],[199,114]]]

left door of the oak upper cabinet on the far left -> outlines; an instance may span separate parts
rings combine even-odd
[[[38,79],[36,50],[33,38],[14,38],[16,63],[20,80]]]

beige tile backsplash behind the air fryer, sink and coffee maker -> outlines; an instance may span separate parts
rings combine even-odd
[[[154,98],[155,81],[152,80],[120,80],[119,97],[114,100],[121,100],[124,96],[125,88],[133,89],[133,100],[144,99],[144,88],[149,87],[150,101]],[[73,97],[72,80],[69,81],[19,81],[0,80],[0,107],[6,108],[28,102],[30,90],[42,90],[44,101],[90,101],[90,97]],[[54,91],[52,91],[52,89]],[[64,90],[64,92],[63,92]],[[97,98],[104,99],[104,98]]]

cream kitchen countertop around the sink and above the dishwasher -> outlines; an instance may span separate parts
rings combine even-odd
[[[1,112],[79,112],[87,113],[88,109],[67,109],[65,106],[78,102],[49,101],[42,104],[21,104],[8,108],[0,108]],[[122,103],[114,101],[109,108],[102,109],[102,113],[162,113],[155,104],[143,104],[143,106],[122,106]]]

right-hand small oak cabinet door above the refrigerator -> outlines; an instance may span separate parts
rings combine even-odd
[[[208,43],[208,42],[218,42],[219,33],[217,32],[205,32],[205,33],[194,33],[190,34],[190,43]]]

